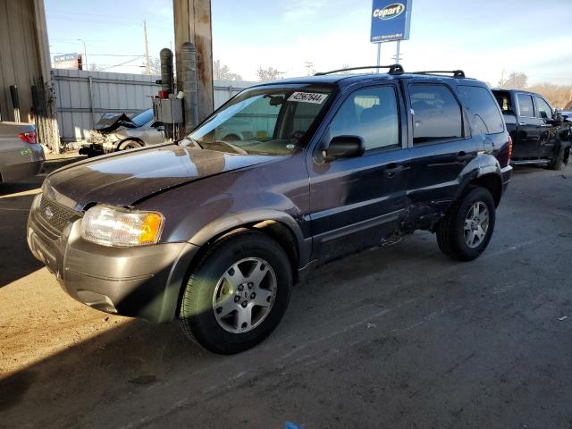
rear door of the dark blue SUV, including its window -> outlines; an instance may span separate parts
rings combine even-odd
[[[407,88],[412,116],[409,198],[438,209],[454,197],[461,172],[484,150],[483,139],[471,137],[467,116],[448,84],[423,80]]]

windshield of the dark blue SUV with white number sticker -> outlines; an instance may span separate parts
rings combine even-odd
[[[324,87],[247,90],[189,137],[223,152],[288,155],[305,145],[308,130],[331,97],[332,88]]]

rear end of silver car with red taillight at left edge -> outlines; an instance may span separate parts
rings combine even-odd
[[[44,149],[31,123],[0,122],[0,181],[35,176],[44,164]]]

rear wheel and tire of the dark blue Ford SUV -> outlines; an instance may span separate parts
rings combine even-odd
[[[496,219],[491,192],[470,188],[437,223],[437,243],[442,252],[458,261],[479,257],[491,241]]]

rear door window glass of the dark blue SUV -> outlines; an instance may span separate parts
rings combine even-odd
[[[461,139],[461,107],[444,85],[414,84],[409,87],[413,109],[413,144]]]

